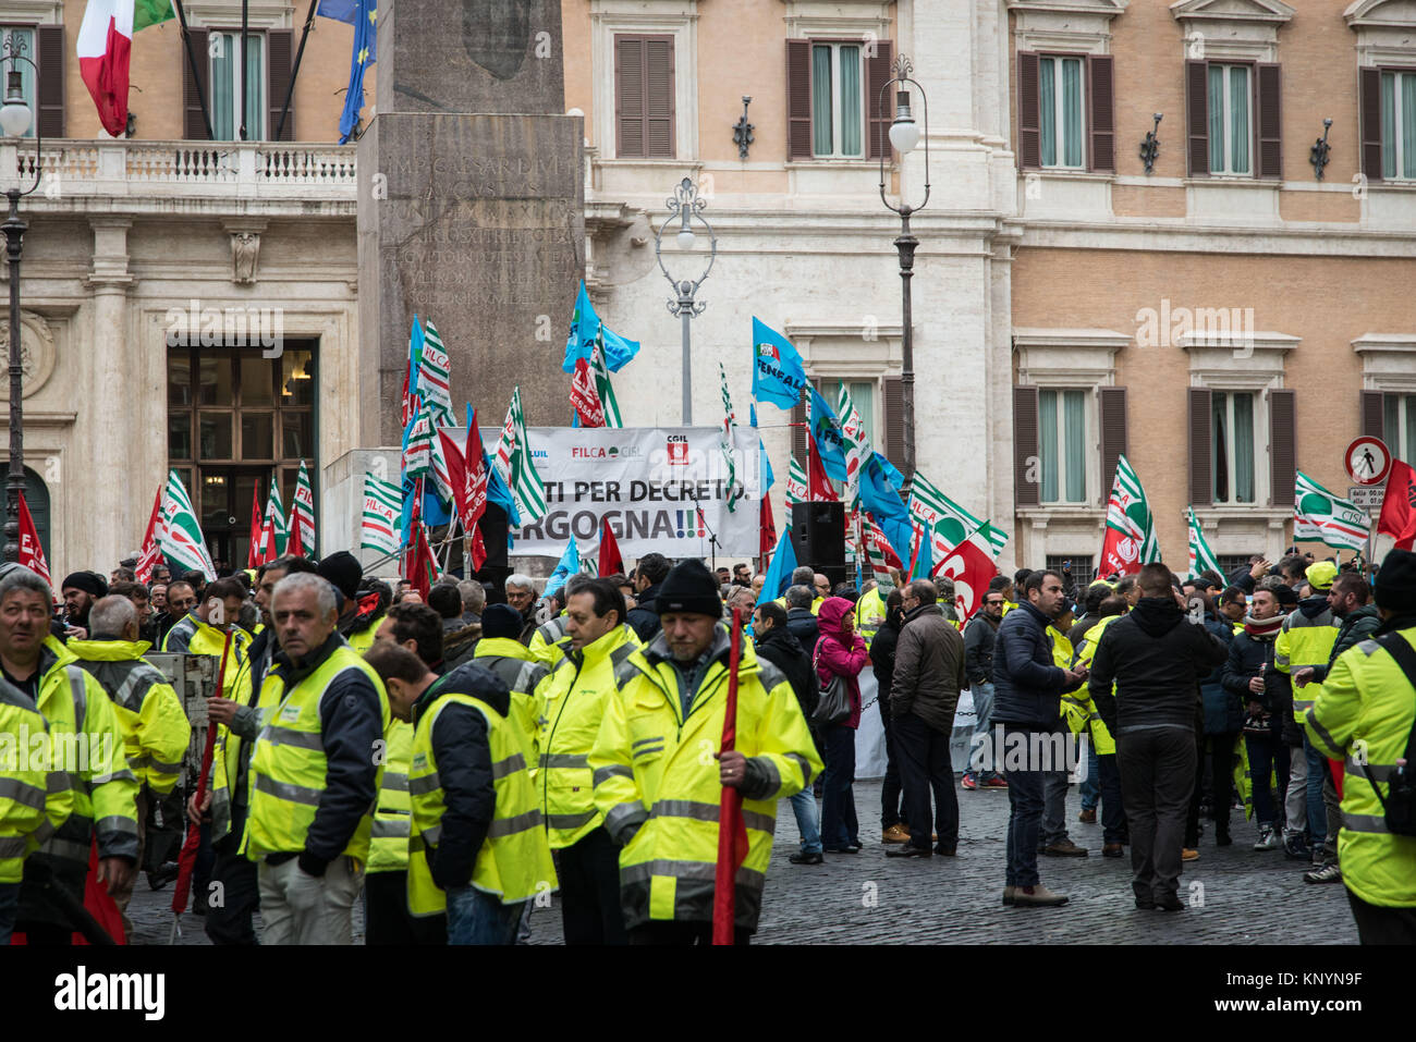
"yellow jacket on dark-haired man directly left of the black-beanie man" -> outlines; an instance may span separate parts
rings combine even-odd
[[[585,838],[605,821],[595,806],[590,749],[600,732],[605,702],[615,694],[615,670],[639,651],[629,626],[617,626],[565,658],[541,681],[541,726],[537,791],[551,849]]]

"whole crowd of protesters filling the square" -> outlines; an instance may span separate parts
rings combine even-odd
[[[891,858],[957,857],[957,791],[1005,791],[1003,903],[1065,905],[1038,866],[1089,854],[1068,831],[1078,784],[1078,825],[1100,824],[1106,858],[1129,848],[1140,909],[1182,909],[1202,823],[1223,847],[1242,815],[1256,855],[1281,849],[1306,882],[1347,883],[1364,940],[1416,940],[1416,840],[1391,827],[1382,790],[1405,777],[1416,733],[1405,551],[1375,590],[1297,554],[1086,586],[1022,569],[967,623],[947,579],[893,572],[857,589],[804,566],[773,599],[746,565],[660,554],[549,596],[520,573],[418,590],[365,576],[348,552],[210,582],[160,565],[139,583],[133,565],[72,573],[58,597],[0,566],[0,723],[54,752],[0,757],[0,943],[85,929],[91,849],[130,930],[137,872],[154,888],[177,875],[187,821],[201,832],[195,910],[218,944],[350,943],[355,903],[371,944],[508,944],[554,892],[569,944],[708,943],[725,787],[748,837],[746,943],[777,800],[799,825],[792,864],[862,849],[867,668]],[[215,660],[200,794],[187,709],[153,651]],[[960,777],[964,692],[976,722]],[[61,738],[79,733],[106,757],[61,765]]]

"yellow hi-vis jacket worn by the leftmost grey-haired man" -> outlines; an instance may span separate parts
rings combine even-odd
[[[69,773],[74,810],[33,855],[59,872],[86,872],[101,858],[137,861],[137,777],[127,766],[113,702],[54,637],[40,650],[38,711],[50,725],[54,766]]]

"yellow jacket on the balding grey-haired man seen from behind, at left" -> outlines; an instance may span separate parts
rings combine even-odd
[[[127,766],[159,796],[181,779],[191,723],[181,699],[157,667],[143,658],[146,640],[71,640],[67,646],[113,699]]]

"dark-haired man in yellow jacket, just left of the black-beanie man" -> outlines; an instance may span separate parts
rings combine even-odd
[[[619,847],[595,806],[590,749],[615,697],[615,671],[639,650],[624,624],[624,595],[609,579],[582,583],[566,602],[569,646],[537,688],[541,704],[537,791],[551,849],[559,851],[566,944],[624,944]]]

